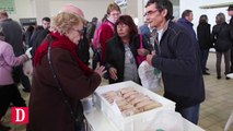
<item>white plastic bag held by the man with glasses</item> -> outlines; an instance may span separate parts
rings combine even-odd
[[[156,69],[150,66],[147,61],[143,61],[139,68],[138,73],[139,78],[141,79],[141,84],[143,87],[152,91],[158,92],[161,88],[161,72],[154,73]]]

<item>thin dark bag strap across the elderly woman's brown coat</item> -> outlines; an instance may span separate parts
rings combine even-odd
[[[74,120],[75,127],[78,127],[78,123],[80,123],[80,122],[82,121],[82,117],[81,117],[81,116],[80,116],[80,117],[79,117],[79,116],[75,117],[75,112],[74,112],[74,110],[71,108],[71,105],[70,105],[70,103],[69,103],[69,100],[68,100],[68,97],[67,97],[67,95],[65,94],[65,92],[63,92],[62,88],[61,88],[60,82],[59,82],[59,80],[58,80],[58,78],[57,78],[57,74],[56,74],[56,72],[55,72],[55,69],[54,69],[53,62],[51,62],[51,44],[53,44],[53,41],[54,41],[54,38],[49,37],[48,40],[49,40],[49,45],[48,45],[47,58],[48,58],[49,69],[50,69],[50,71],[51,71],[53,78],[54,78],[54,80],[55,80],[55,82],[56,82],[56,84],[57,84],[57,88],[58,88],[59,93],[60,93],[61,96],[62,96],[63,103],[67,105],[67,107],[68,107],[68,109],[69,109],[69,111],[70,111],[70,116],[71,116],[72,119]]]

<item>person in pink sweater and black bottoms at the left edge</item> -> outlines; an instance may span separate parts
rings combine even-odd
[[[30,50],[28,50],[30,51]],[[18,85],[12,78],[12,67],[20,66],[27,61],[31,56],[14,56],[13,48],[4,41],[4,34],[0,32],[0,131],[10,131],[10,127],[1,123],[2,117],[5,115],[10,104],[16,107],[25,107],[25,100],[21,97]]]

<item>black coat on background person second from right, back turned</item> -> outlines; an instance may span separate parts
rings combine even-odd
[[[200,49],[212,48],[211,34],[210,34],[210,24],[200,23],[197,26],[197,38]]]

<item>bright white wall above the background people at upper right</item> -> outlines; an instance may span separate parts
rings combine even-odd
[[[226,21],[230,20],[228,15],[228,7],[225,8],[214,8],[214,9],[200,9],[199,7],[208,5],[208,4],[218,4],[224,2],[232,2],[232,0],[180,0],[179,1],[179,14],[186,9],[193,10],[194,13],[194,28],[197,28],[199,16],[201,14],[207,14],[209,17],[209,23],[211,26],[215,24],[215,15],[220,12],[224,13],[226,16]]]

